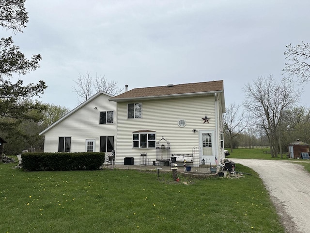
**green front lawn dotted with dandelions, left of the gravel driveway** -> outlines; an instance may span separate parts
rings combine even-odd
[[[0,164],[0,233],[284,233],[262,181],[241,165],[253,175],[179,183],[170,172],[14,166]]]

